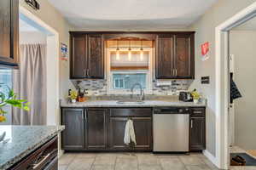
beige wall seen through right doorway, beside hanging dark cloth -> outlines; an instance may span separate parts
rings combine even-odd
[[[234,80],[242,98],[235,104],[235,144],[256,150],[256,31],[230,31],[230,54],[234,54]]]

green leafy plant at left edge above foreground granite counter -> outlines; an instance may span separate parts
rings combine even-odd
[[[26,99],[17,99],[17,94],[15,94],[13,89],[8,87],[8,90],[9,92],[7,95],[0,92],[0,122],[6,121],[6,117],[4,115],[7,114],[7,112],[3,111],[3,106],[5,105],[12,105],[25,111],[29,111],[30,103],[27,102]]]

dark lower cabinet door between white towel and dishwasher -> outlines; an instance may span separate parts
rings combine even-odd
[[[133,126],[137,144],[134,150],[152,150],[152,118],[151,117],[133,117]]]

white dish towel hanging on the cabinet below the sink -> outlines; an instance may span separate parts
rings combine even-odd
[[[129,119],[125,125],[124,142],[125,144],[131,144],[131,142],[136,144],[136,137],[135,137],[134,127],[133,127],[133,122],[131,119]]]

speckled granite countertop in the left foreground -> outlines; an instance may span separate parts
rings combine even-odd
[[[64,130],[64,126],[0,126],[8,143],[0,143],[0,169],[7,169]]]

